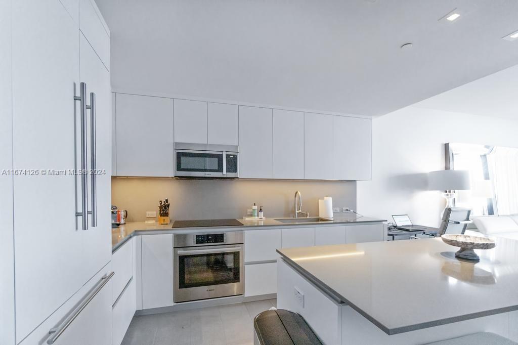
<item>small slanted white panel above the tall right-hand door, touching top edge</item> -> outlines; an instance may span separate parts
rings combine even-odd
[[[110,34],[103,16],[92,0],[79,1],[79,28],[99,59],[110,70]]]

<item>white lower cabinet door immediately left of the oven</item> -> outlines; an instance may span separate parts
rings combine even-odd
[[[142,309],[172,305],[172,234],[141,236]]]

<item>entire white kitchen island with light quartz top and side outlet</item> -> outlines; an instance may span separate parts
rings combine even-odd
[[[440,238],[280,249],[277,306],[328,344],[518,339],[518,241],[455,258]]]

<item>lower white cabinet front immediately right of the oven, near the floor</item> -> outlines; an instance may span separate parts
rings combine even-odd
[[[277,263],[244,265],[244,296],[277,293]]]

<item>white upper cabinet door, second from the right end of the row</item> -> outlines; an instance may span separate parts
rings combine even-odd
[[[304,177],[331,180],[333,173],[333,115],[304,114]]]

